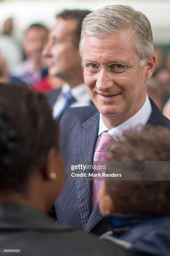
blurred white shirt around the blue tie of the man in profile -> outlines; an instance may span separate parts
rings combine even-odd
[[[61,92],[53,106],[53,116],[54,118],[58,116],[60,111],[63,109],[64,104],[66,102],[66,99],[64,98],[64,95],[71,91],[75,102],[73,102],[70,106],[70,108],[73,107],[82,107],[82,106],[88,106],[90,105],[90,97],[87,93],[85,83],[82,83],[74,88],[70,88],[68,83],[64,83]]]

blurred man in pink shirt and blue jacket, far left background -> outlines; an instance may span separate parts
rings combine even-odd
[[[28,86],[47,75],[41,53],[48,40],[48,29],[39,23],[32,24],[25,33],[23,49],[26,60],[16,66],[10,74],[10,82]]]

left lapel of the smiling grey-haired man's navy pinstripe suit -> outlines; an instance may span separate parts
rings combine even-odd
[[[82,124],[82,127],[73,142],[73,156],[75,161],[92,161],[94,148],[99,129],[99,112],[91,116]],[[83,172],[88,173],[89,170]],[[90,180],[77,180],[76,193],[77,200],[82,219],[83,228],[91,214],[91,189],[92,183]]]

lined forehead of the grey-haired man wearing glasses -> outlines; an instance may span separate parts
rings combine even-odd
[[[131,29],[122,29],[103,37],[87,36],[84,44],[83,61],[125,61],[134,59]]]

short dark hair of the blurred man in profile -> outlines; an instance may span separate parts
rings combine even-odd
[[[75,28],[75,34],[73,37],[73,44],[75,47],[79,46],[81,30],[82,30],[82,22],[83,19],[91,13],[89,10],[80,10],[80,9],[73,9],[73,10],[63,10],[61,13],[56,15],[56,18],[62,18],[64,20],[75,19],[77,20],[77,27]]]

